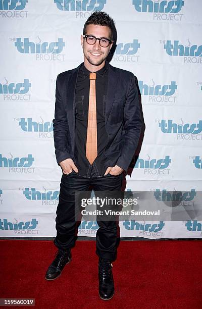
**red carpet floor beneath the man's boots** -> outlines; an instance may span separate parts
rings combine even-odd
[[[1,240],[0,298],[35,298],[36,308],[201,308],[202,241],[121,241],[113,264],[115,295],[99,298],[94,241],[77,241],[55,281],[44,275],[52,241]]]

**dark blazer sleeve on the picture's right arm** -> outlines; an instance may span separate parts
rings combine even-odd
[[[137,148],[141,127],[142,120],[138,100],[138,90],[135,83],[135,76],[132,74],[130,88],[124,107],[124,142],[121,149],[121,155],[116,163],[116,165],[126,172]]]

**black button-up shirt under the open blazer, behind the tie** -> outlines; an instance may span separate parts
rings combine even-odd
[[[97,115],[97,157],[92,164],[86,158],[86,138],[88,125],[88,104],[90,80],[88,71],[82,63],[75,92],[75,159],[78,175],[83,177],[103,177],[106,170],[107,158],[104,149],[108,143],[105,125],[105,105],[107,100],[108,63],[96,71],[96,115]]]

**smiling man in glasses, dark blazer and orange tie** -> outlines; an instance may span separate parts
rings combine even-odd
[[[141,117],[135,77],[106,58],[113,45],[113,20],[94,12],[81,35],[84,62],[58,75],[54,141],[63,175],[57,208],[58,253],[45,278],[56,279],[71,261],[75,243],[75,192],[120,191],[138,144]],[[117,224],[97,221],[99,296],[114,295],[112,262],[117,254]]]

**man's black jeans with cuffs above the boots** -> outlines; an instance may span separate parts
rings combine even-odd
[[[90,198],[91,195],[89,186],[92,186],[95,196],[96,191],[121,191],[122,179],[122,173],[117,176],[107,174],[99,178],[85,178],[74,171],[68,175],[62,175],[56,212],[57,236],[54,240],[59,249],[73,247],[75,244],[75,191],[89,191],[87,198]],[[117,256],[118,222],[97,221],[97,224],[99,228],[96,232],[96,254],[100,258],[115,261]]]

